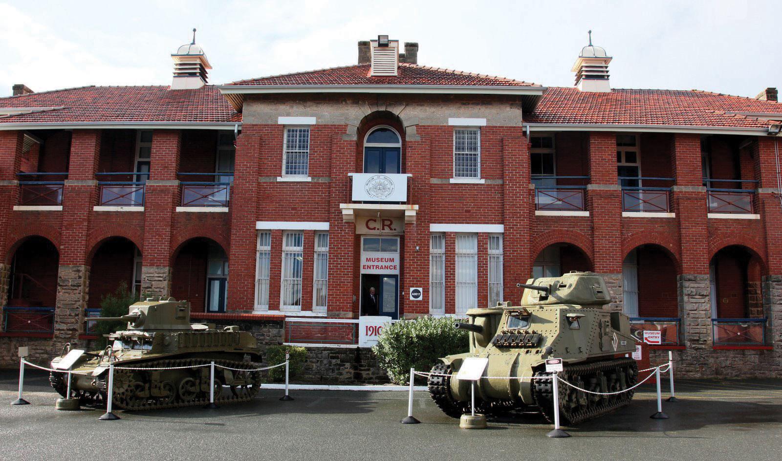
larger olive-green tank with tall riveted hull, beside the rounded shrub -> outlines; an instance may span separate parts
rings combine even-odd
[[[486,357],[483,376],[551,376],[547,358],[561,358],[559,376],[583,389],[615,392],[637,383],[638,367],[625,355],[635,351],[629,319],[608,312],[611,295],[601,276],[570,272],[561,277],[529,279],[522,305],[498,303],[493,308],[471,309],[469,323],[457,328],[470,332],[470,351],[449,355],[432,368],[429,394],[448,416],[469,411],[470,382],[456,376],[465,358]],[[482,378],[475,385],[476,411],[487,414],[513,410],[542,412],[553,420],[553,378]],[[615,395],[587,394],[560,383],[560,418],[565,424],[611,412],[630,403],[633,391]]]

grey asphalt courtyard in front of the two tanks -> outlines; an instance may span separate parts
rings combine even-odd
[[[425,392],[416,392],[421,424],[399,420],[407,394],[385,391],[261,392],[220,409],[58,412],[46,376],[28,370],[25,398],[10,406],[17,373],[0,370],[2,459],[775,459],[782,448],[782,381],[680,380],[680,402],[663,402],[669,420],[650,420],[653,387],[612,415],[551,439],[540,417],[490,420],[461,430]]]

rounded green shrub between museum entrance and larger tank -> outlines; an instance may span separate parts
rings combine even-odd
[[[438,358],[469,351],[468,333],[450,317],[418,317],[386,325],[372,347],[392,383],[408,384],[410,369],[428,372]]]

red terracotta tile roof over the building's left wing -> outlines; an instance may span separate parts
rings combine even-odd
[[[214,85],[173,91],[167,86],[85,86],[0,98],[0,110],[11,107],[41,109],[0,115],[0,124],[242,121]]]

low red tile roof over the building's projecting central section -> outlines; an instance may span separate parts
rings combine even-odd
[[[454,85],[540,86],[527,81],[400,63],[395,77],[371,77],[369,64],[310,70],[234,81],[228,85]]]

